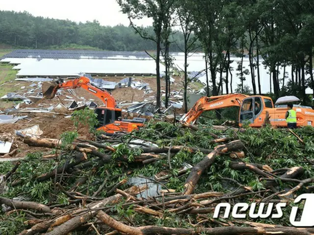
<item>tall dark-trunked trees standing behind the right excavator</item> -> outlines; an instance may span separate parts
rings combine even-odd
[[[261,94],[261,79],[272,85],[274,98],[283,94],[298,95],[304,104],[310,104],[307,87],[314,88],[313,44],[314,3],[309,0],[117,0],[123,12],[131,19],[131,26],[143,38],[156,45],[156,60],[162,54],[166,68],[171,65],[169,56],[175,33],[173,25],[180,25],[186,54],[193,51],[195,42],[201,44],[210,74],[208,91],[213,95],[233,93],[229,86],[230,71],[244,80],[252,79],[252,94]],[[132,23],[132,20],[150,17],[154,34]],[[160,53],[159,53],[160,52]],[[231,54],[248,55],[250,68],[231,68]],[[263,59],[260,60],[260,58]],[[188,84],[185,60],[184,90]],[[269,70],[269,78],[261,77],[260,65]],[[279,76],[279,67],[290,66],[292,76]],[[158,63],[157,63],[158,85]],[[218,73],[219,71],[219,73]],[[220,74],[219,76],[217,74]],[[167,77],[167,70],[166,70]],[[286,81],[285,81],[286,79]],[[170,84],[169,84],[170,85]],[[240,91],[243,93],[243,83]],[[209,92],[208,92],[209,95]],[[184,95],[186,101],[186,95]],[[157,92],[157,102],[159,100]],[[184,102],[186,103],[186,102]],[[185,107],[186,109],[186,107]]]

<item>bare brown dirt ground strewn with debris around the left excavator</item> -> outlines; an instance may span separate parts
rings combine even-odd
[[[120,81],[124,77],[105,77],[104,79],[107,81]],[[117,104],[120,102],[131,103],[132,101],[144,101],[147,100],[156,100],[156,78],[155,77],[137,77],[137,81],[142,81],[148,83],[150,88],[153,90],[152,93],[145,94],[144,90],[132,89],[128,88],[116,88],[111,91],[111,94],[115,98]],[[175,77],[175,82],[171,85],[171,90],[180,91],[182,89],[182,81],[180,77]],[[11,80],[4,84],[2,87],[10,88],[10,92],[15,92],[17,94],[26,94],[30,89],[37,89],[37,83],[35,82],[35,87],[29,87],[31,82],[23,82]],[[165,90],[165,81],[161,80],[161,90]],[[35,92],[40,92],[41,89],[35,90]],[[71,102],[69,99],[75,99],[77,102],[86,100],[93,100],[98,105],[102,105],[102,101],[89,93],[88,91],[79,88],[74,90],[75,95],[71,94],[69,91],[61,91],[61,95],[55,96],[53,99],[42,100],[41,102],[35,104],[32,103],[30,105],[26,105],[24,103],[20,104],[20,108],[48,108],[50,106],[55,106],[58,103],[67,104]],[[27,96],[27,94],[26,94]],[[68,97],[66,97],[68,96]],[[69,98],[71,96],[72,98]],[[83,98],[81,98],[83,97]],[[68,99],[68,100],[67,100]],[[7,108],[12,108],[14,105],[18,104],[18,101],[0,101],[0,110],[5,111]],[[68,111],[68,114],[71,114],[71,111]],[[43,114],[43,113],[23,113],[17,114],[18,116],[26,116],[26,119],[19,120],[14,124],[0,124],[0,140],[1,141],[10,141],[12,137],[14,138],[14,146],[12,149],[17,148],[17,154],[14,157],[24,157],[27,153],[31,152],[43,152],[43,154],[49,154],[51,149],[43,149],[36,147],[28,147],[25,143],[23,143],[23,139],[15,134],[16,130],[24,129],[27,127],[31,127],[33,125],[39,125],[40,129],[43,131],[42,138],[51,138],[51,139],[59,139],[60,135],[66,131],[71,131],[75,129],[73,122],[70,118],[65,118],[64,115],[56,115],[56,114]],[[82,139],[89,139],[90,135],[88,132],[88,128],[79,128],[78,129],[79,136]],[[7,138],[9,137],[9,138]],[[12,150],[11,149],[11,150]],[[1,156],[0,156],[1,158]]]

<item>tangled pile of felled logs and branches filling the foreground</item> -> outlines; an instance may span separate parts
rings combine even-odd
[[[184,131],[184,130],[183,130]],[[247,220],[235,219],[213,219],[212,214],[215,206],[221,202],[292,202],[289,197],[300,190],[303,186],[313,182],[313,179],[302,179],[304,168],[295,166],[291,168],[272,169],[266,164],[247,163],[242,159],[245,156],[246,146],[236,137],[222,137],[211,135],[215,139],[210,142],[213,149],[204,149],[199,147],[187,147],[183,145],[170,145],[162,147],[151,147],[145,142],[139,143],[129,140],[127,144],[137,145],[141,148],[141,153],[134,157],[130,163],[128,156],[119,156],[113,158],[116,148],[115,144],[122,143],[120,136],[106,138],[105,140],[87,141],[77,139],[66,147],[60,140],[40,139],[26,137],[24,142],[29,146],[52,148],[56,154],[42,157],[42,161],[57,161],[58,156],[71,152],[73,158],[64,164],[57,164],[51,171],[43,175],[34,177],[33,181],[54,183],[54,193],[62,193],[68,197],[67,204],[57,204],[51,201],[47,205],[42,205],[31,201],[18,201],[9,198],[0,197],[0,205],[4,204],[11,210],[6,214],[18,213],[23,211],[28,220],[25,222],[27,229],[21,231],[20,235],[66,235],[73,231],[81,231],[82,234],[129,234],[129,235],[310,235],[314,234],[314,229],[295,227],[285,227],[264,223],[256,223]],[[133,137],[133,140],[138,138]],[[105,144],[106,143],[106,144]],[[110,143],[110,145],[108,144]],[[63,147],[61,147],[63,146]],[[96,172],[105,164],[115,161],[117,167],[120,164],[136,164],[136,167],[145,167],[147,164],[154,164],[160,160],[167,160],[171,168],[171,158],[180,151],[190,153],[202,152],[205,154],[204,159],[195,164],[185,175],[185,183],[182,192],[176,192],[167,188],[164,183],[153,180],[162,188],[159,195],[154,197],[143,197],[142,192],[148,189],[148,185],[128,186],[127,178],[115,182],[117,176],[112,176],[106,171],[103,182],[98,182],[97,190],[78,191],[78,188],[84,185],[88,176],[79,175],[80,170],[90,168],[91,172]],[[261,190],[253,190],[248,185],[243,185],[234,179],[221,176],[221,181],[228,182],[236,187],[231,192],[219,192],[212,188],[208,191],[199,191],[197,185],[210,166],[216,164],[217,158],[230,159],[229,168],[245,173],[247,171],[256,175],[256,178],[262,182]],[[13,169],[5,175],[5,179],[12,177],[20,164],[17,163]],[[132,168],[127,168],[126,175],[132,174]],[[79,175],[79,177],[78,177]],[[68,185],[62,179],[76,176],[77,179],[73,185]],[[184,177],[184,175],[183,175]],[[151,180],[151,179],[150,179]],[[281,182],[290,182],[293,187],[279,191],[278,186]],[[21,179],[14,179],[10,182],[9,187],[17,187],[25,182]],[[214,182],[212,182],[214,183]],[[88,186],[87,186],[88,188]],[[101,197],[105,191],[106,197]],[[162,220],[171,219],[169,214],[178,216],[188,221],[189,228],[170,228],[156,226],[145,223],[138,226],[127,215],[118,216],[115,206],[120,205],[128,208],[132,205],[134,213],[145,214],[153,218]],[[145,221],[143,221],[144,223]],[[280,223],[280,221],[279,221]]]

